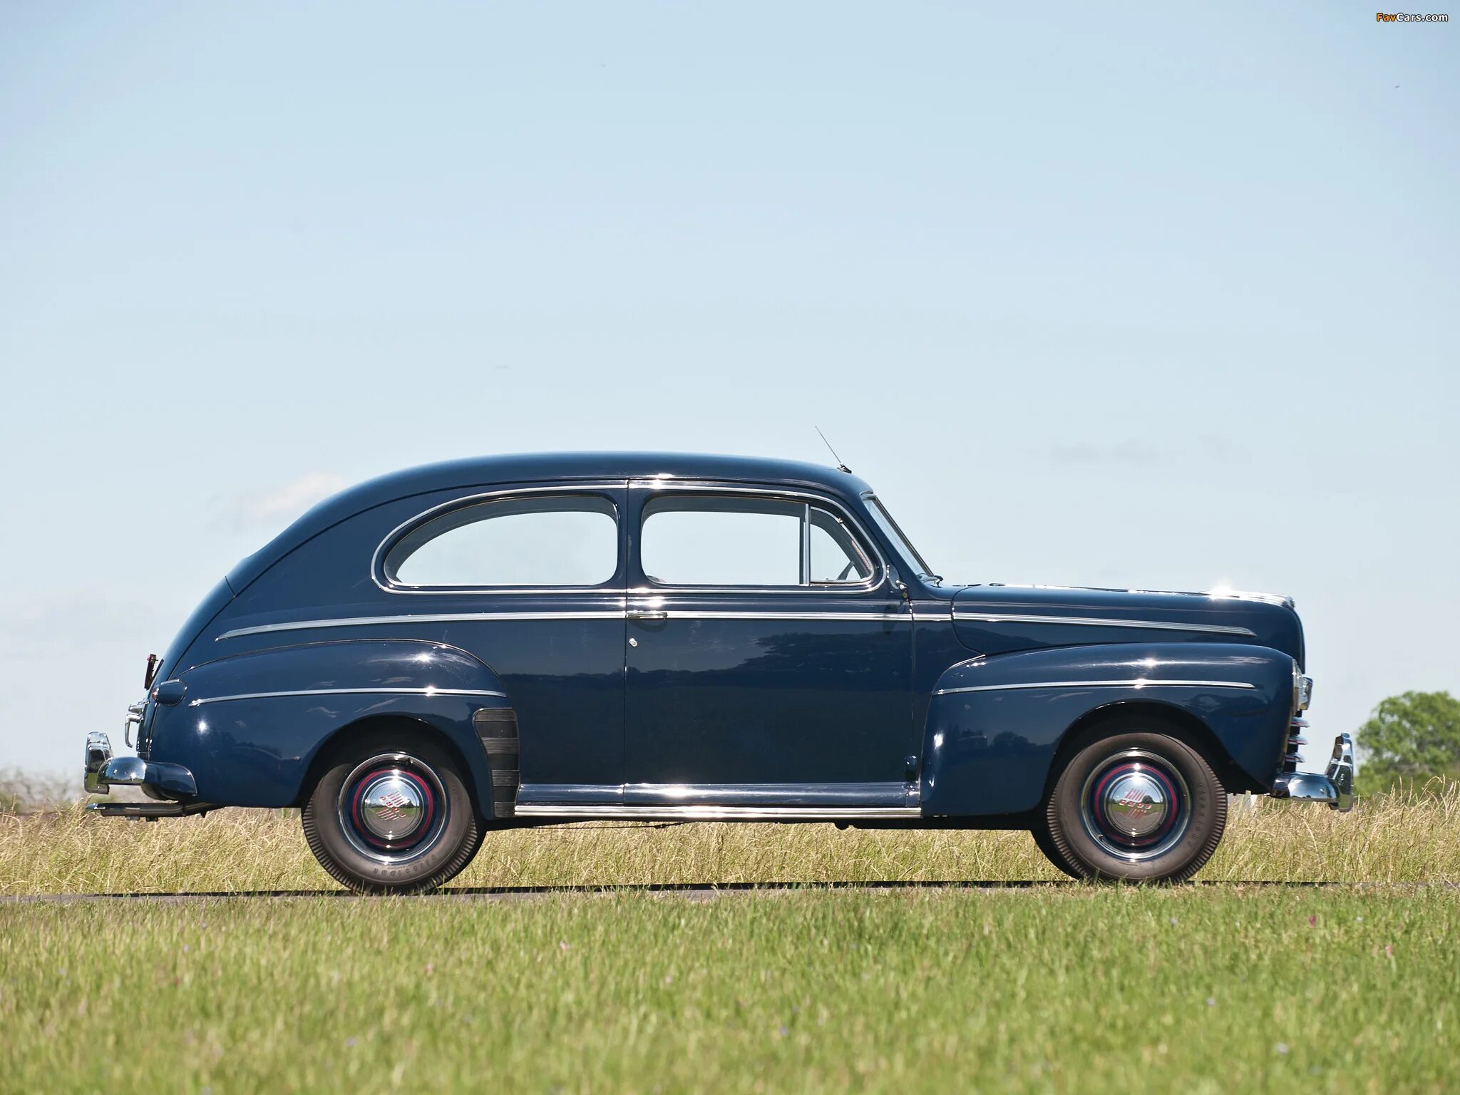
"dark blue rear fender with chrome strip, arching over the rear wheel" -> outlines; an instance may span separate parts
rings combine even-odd
[[[150,759],[193,772],[197,797],[223,806],[292,806],[320,749],[362,718],[412,718],[442,733],[470,768],[479,800],[492,775],[472,726],[507,689],[457,647],[342,639],[207,661],[182,673],[181,699],[159,707]],[[178,685],[169,685],[171,692]]]

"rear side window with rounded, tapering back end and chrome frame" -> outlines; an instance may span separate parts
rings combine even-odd
[[[385,578],[416,588],[602,585],[618,558],[618,515],[606,498],[501,498],[409,531],[387,553]]]

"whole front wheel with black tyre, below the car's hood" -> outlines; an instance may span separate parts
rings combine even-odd
[[[1042,819],[1050,858],[1076,877],[1184,882],[1222,840],[1226,791],[1196,749],[1159,726],[1123,730],[1079,749],[1060,772]]]

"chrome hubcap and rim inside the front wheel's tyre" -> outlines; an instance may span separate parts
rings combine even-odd
[[[1107,853],[1139,863],[1165,854],[1186,835],[1191,796],[1169,761],[1126,749],[1091,771],[1080,815],[1085,831]]]

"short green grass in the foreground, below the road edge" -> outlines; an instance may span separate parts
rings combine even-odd
[[[0,907],[6,1091],[1453,1091],[1448,889]]]

